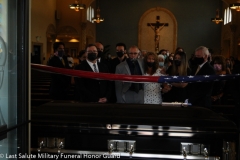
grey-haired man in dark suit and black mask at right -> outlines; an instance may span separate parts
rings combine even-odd
[[[214,68],[208,62],[208,48],[200,46],[195,50],[194,64],[191,75],[215,75]],[[188,85],[188,102],[194,106],[211,107],[211,94],[214,82],[195,82]]]

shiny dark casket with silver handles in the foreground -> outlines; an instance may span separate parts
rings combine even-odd
[[[41,159],[236,160],[237,138],[233,122],[195,106],[55,101],[32,108],[31,153]]]

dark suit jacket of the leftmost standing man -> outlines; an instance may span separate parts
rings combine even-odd
[[[68,61],[66,58],[63,58],[65,66],[62,61],[57,56],[53,56],[48,65],[57,68],[69,68]],[[52,74],[51,75],[51,85],[50,85],[50,96],[52,99],[67,99],[67,94],[71,84],[71,77],[61,74]]]

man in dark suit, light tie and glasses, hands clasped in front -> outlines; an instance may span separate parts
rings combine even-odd
[[[87,46],[86,53],[87,59],[82,61],[76,70],[108,73],[107,67],[97,61],[98,51],[94,44]],[[111,95],[111,85],[106,80],[75,78],[75,85],[78,90],[77,97],[83,102],[106,103]]]

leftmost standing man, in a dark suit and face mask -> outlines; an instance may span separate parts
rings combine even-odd
[[[67,56],[64,52],[64,43],[55,42],[53,44],[54,54],[49,59],[48,65],[57,68],[68,68],[70,69]],[[51,75],[51,85],[50,85],[50,96],[52,99],[64,100],[67,99],[67,94],[71,84],[71,77],[52,74]]]

